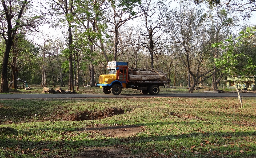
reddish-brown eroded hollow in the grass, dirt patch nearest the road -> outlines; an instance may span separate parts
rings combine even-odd
[[[59,113],[54,116],[57,120],[62,121],[82,121],[82,120],[98,120],[114,115],[120,115],[125,113],[123,109],[118,108],[107,108],[105,110],[95,110],[95,111],[83,111],[78,113]]]

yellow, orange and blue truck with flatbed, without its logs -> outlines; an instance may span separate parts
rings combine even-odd
[[[161,75],[158,75],[158,78],[153,78],[153,75],[147,75],[146,79],[143,77],[146,75],[140,75],[138,80],[132,80],[129,78],[127,62],[108,62],[107,69],[109,74],[100,75],[99,83],[97,84],[105,94],[119,95],[123,88],[133,88],[140,90],[141,94],[158,95],[159,86],[165,86],[170,82],[170,79],[166,78],[166,81]]]

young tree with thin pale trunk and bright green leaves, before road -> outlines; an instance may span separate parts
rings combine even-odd
[[[233,78],[235,84],[234,75],[241,75],[246,77],[247,75],[256,75],[256,53],[255,51],[245,51],[245,47],[251,47],[254,49],[256,40],[256,27],[247,27],[239,33],[237,38],[232,36],[229,39],[214,43],[213,47],[221,47],[223,50],[222,58],[215,59],[218,67],[225,67],[223,72],[229,74]],[[237,86],[235,86],[237,89]],[[240,108],[242,108],[242,100],[237,89]]]

